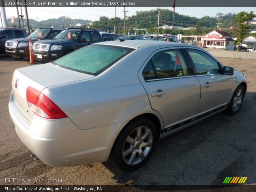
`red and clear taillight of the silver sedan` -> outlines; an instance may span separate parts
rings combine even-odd
[[[36,115],[47,119],[60,119],[68,117],[49,97],[40,91],[27,88],[28,108]]]

